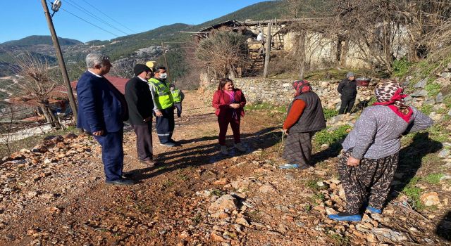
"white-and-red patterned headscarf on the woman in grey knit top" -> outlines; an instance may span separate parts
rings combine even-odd
[[[413,111],[412,108],[405,104],[404,98],[408,95],[403,94],[402,91],[404,91],[404,88],[394,80],[382,82],[376,86],[375,93],[377,102],[373,105],[388,106],[396,115],[409,123]]]

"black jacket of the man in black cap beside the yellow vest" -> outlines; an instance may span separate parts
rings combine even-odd
[[[148,124],[144,122],[144,119],[152,117],[152,110],[154,109],[149,84],[139,77],[130,79],[125,84],[125,100],[127,100],[128,105],[128,122],[130,124]]]

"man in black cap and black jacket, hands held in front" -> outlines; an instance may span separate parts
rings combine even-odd
[[[136,134],[136,150],[141,162],[154,166],[152,151],[152,109],[154,102],[147,80],[152,70],[144,64],[133,68],[134,78],[125,84],[125,99],[127,100],[129,122]]]

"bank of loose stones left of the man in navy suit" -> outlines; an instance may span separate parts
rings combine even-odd
[[[86,164],[93,152],[99,152],[93,145],[91,138],[75,134],[49,136],[33,148],[24,148],[2,158],[0,227],[4,219],[26,214],[28,207],[32,209],[35,205],[60,199],[75,188],[70,183],[71,179],[76,179],[71,176],[72,172]],[[80,171],[78,175],[89,176],[89,173]]]

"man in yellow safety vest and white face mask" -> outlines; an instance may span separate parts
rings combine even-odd
[[[175,127],[174,99],[166,82],[167,77],[166,67],[156,67],[154,77],[149,79],[149,89],[154,101],[156,135],[160,140],[160,144],[167,147],[175,147],[180,144],[172,139]]]

